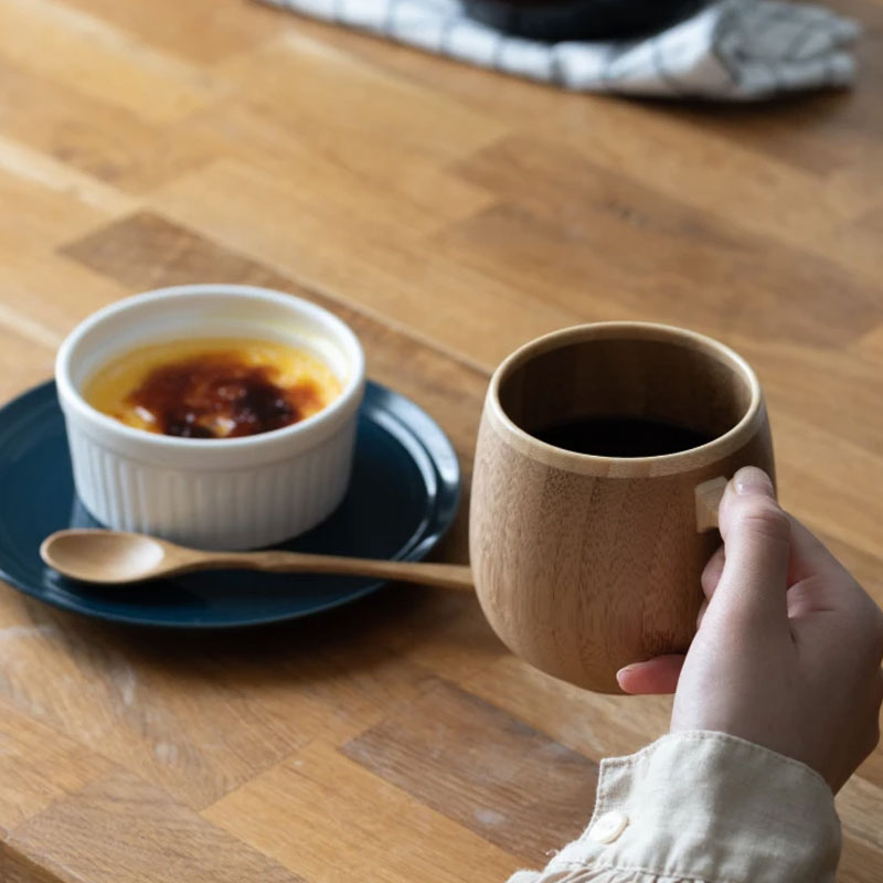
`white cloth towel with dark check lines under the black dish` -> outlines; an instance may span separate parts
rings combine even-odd
[[[768,98],[847,86],[859,25],[779,0],[719,0],[637,41],[541,43],[468,19],[459,0],[265,0],[508,74],[585,92]]]

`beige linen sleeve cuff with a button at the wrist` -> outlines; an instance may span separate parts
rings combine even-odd
[[[833,883],[833,795],[797,760],[724,733],[602,762],[583,836],[509,883]]]

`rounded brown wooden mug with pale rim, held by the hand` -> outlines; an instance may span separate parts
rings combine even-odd
[[[591,416],[678,424],[712,440],[607,457],[534,433]],[[619,692],[623,666],[683,652],[720,544],[717,503],[742,466],[773,472],[760,385],[711,338],[603,322],[534,340],[494,372],[476,451],[469,547],[502,641],[550,674]]]

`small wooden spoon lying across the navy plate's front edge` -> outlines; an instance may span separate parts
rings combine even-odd
[[[472,573],[465,564],[377,561],[280,550],[203,552],[123,531],[57,531],[43,541],[40,556],[65,576],[100,584],[138,583],[193,571],[228,568],[375,576],[440,588],[474,589]]]

